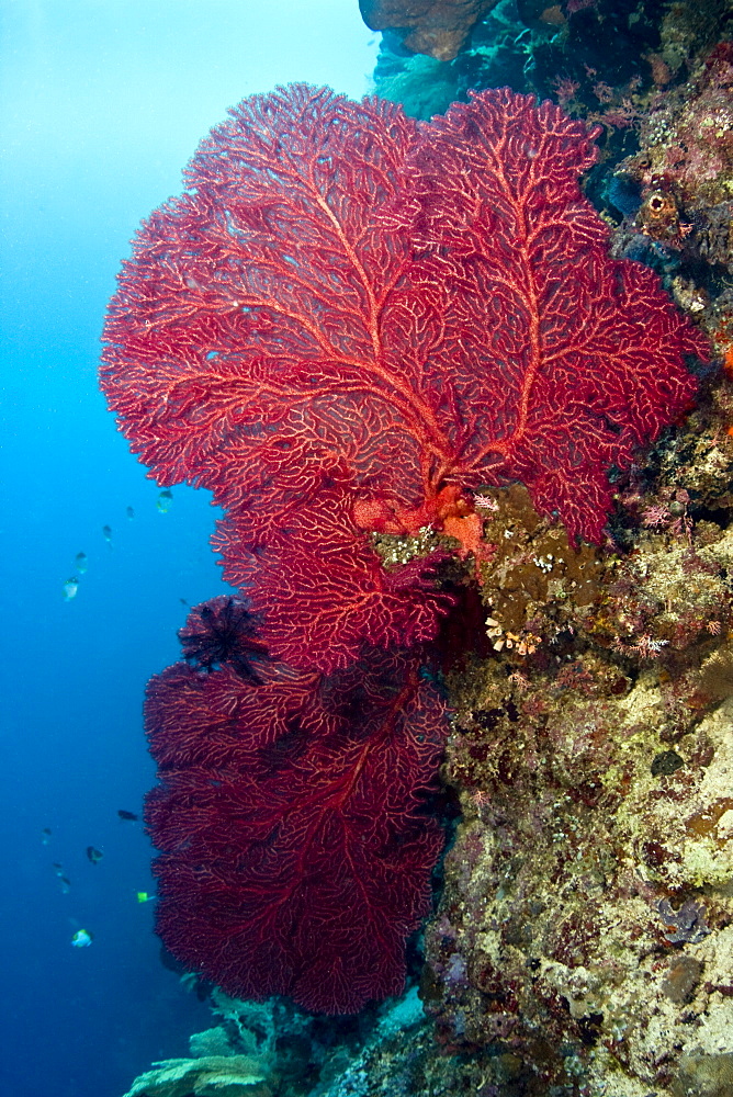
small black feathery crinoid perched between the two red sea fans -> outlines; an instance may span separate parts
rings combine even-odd
[[[233,595],[219,595],[194,606],[178,638],[189,666],[210,672],[227,664],[240,678],[259,683],[252,664],[268,658],[268,649],[257,638],[257,618],[247,602]]]

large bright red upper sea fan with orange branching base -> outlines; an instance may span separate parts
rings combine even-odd
[[[159,483],[227,511],[225,574],[275,656],[435,635],[431,562],[388,573],[370,534],[454,533],[482,483],[598,540],[609,466],[689,405],[703,341],[608,258],[591,137],[507,90],[418,125],[294,86],[234,109],[144,225],[102,385]]]

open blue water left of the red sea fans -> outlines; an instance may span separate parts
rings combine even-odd
[[[151,850],[117,811],[139,812],[153,783],[145,681],[177,657],[183,602],[223,589],[207,548],[216,514],[184,488],[161,513],[104,407],[115,272],[227,106],[290,80],[359,98],[375,54],[357,0],[0,4],[8,1097],[119,1097],[211,1019],[159,961],[154,902],[137,902],[154,890]],[[80,928],[88,948],[71,946]]]

